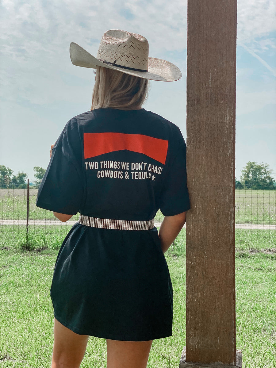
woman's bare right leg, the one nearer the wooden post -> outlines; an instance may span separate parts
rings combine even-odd
[[[152,342],[106,339],[106,368],[146,368]]]

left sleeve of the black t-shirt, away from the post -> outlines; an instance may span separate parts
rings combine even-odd
[[[66,215],[75,215],[79,211],[83,195],[81,166],[74,153],[78,149],[74,141],[77,142],[79,137],[72,135],[67,123],[53,147],[36,198],[36,206]]]

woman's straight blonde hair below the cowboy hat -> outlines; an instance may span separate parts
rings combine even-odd
[[[148,79],[100,66],[96,70],[91,110],[133,110],[148,98]]]

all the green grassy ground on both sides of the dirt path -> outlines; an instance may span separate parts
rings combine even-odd
[[[33,220],[56,220],[35,207]],[[2,212],[2,213],[1,213]],[[0,218],[26,219],[26,190],[0,191]],[[78,215],[73,218],[78,220]],[[162,221],[160,212],[156,222]],[[70,224],[1,225],[0,368],[49,368],[54,264]],[[236,224],[276,223],[276,192],[236,190]],[[154,340],[147,368],[177,368],[185,346],[185,229],[165,253],[173,284],[173,335]],[[243,368],[276,368],[276,231],[236,229],[236,348]],[[90,337],[82,368],[106,366],[105,339]]]

